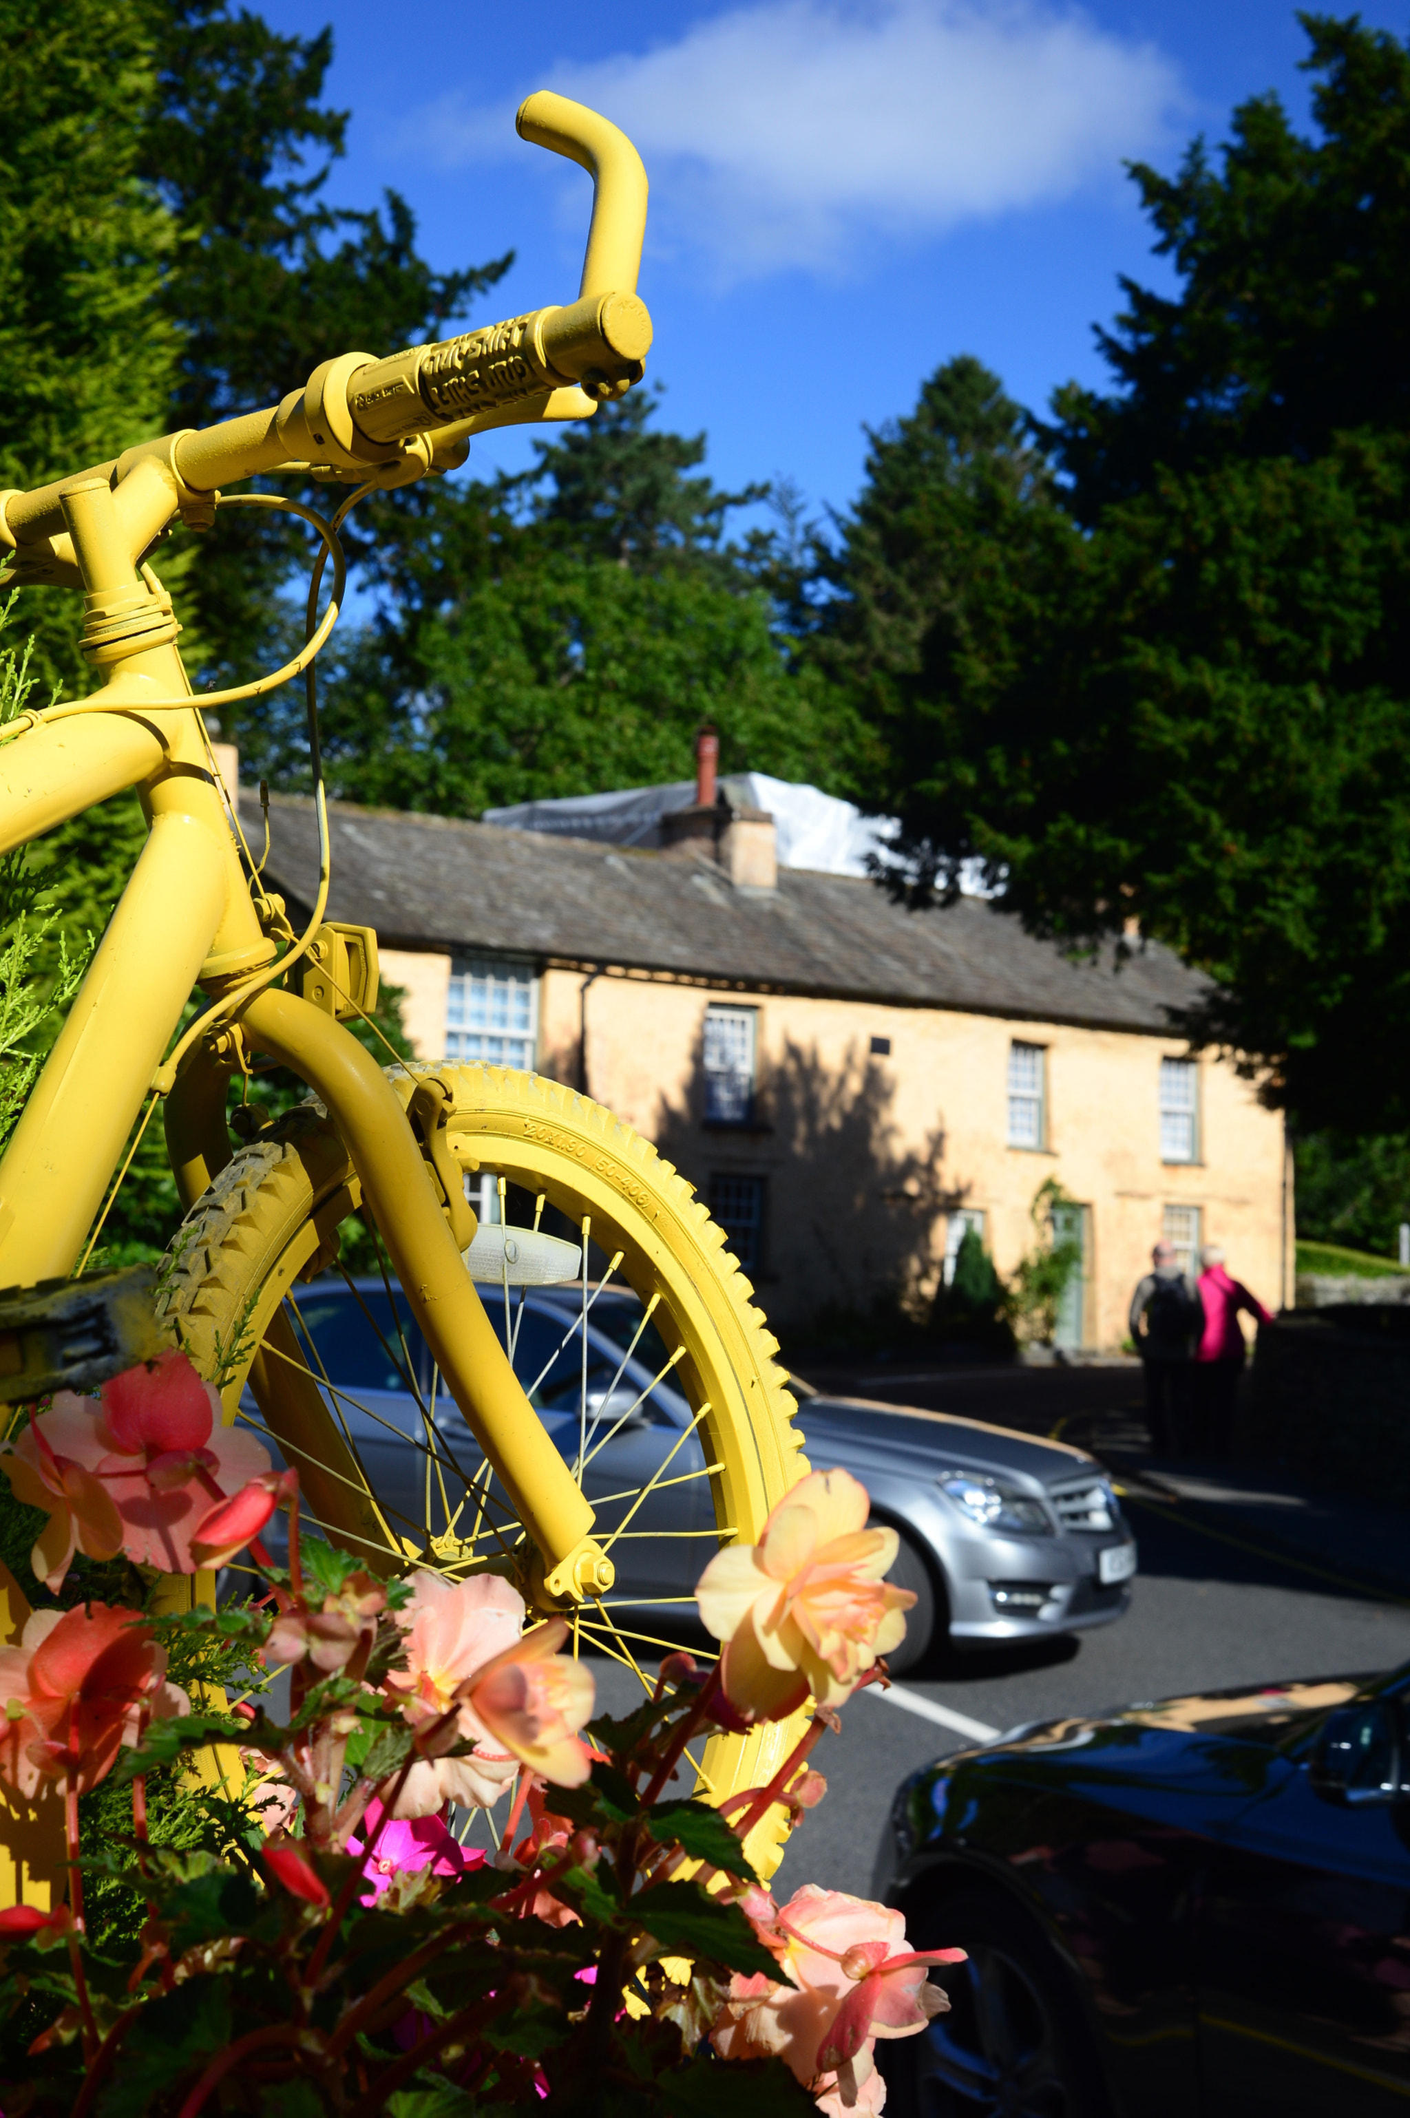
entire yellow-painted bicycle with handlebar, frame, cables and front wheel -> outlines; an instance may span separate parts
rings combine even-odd
[[[36,491],[0,493],[8,563],[0,580],[83,589],[83,650],[102,676],[93,695],[25,712],[0,731],[0,851],[133,786],[150,824],[0,1161],[0,1286],[80,1267],[123,1146],[144,1106],[150,1116],[161,1101],[186,1220],[161,1273],[159,1315],[220,1387],[227,1421],[263,1425],[299,1466],[309,1512],[370,1565],[457,1576],[508,1567],[531,1610],[570,1614],[580,1646],[639,1669],[673,1644],[682,1612],[671,1605],[686,1599],[654,1599],[661,1608],[644,1616],[633,1597],[627,1614],[614,1597],[620,1540],[694,1538],[699,1574],[720,1542],[756,1542],[807,1468],[775,1341],[690,1186],[610,1112],[534,1074],[381,1067],[345,1027],[375,1004],[375,936],[324,921],[328,826],[311,665],[343,599],[339,523],[366,491],[464,462],[472,434],[591,415],[641,379],[650,347],[650,316],[635,292],[646,229],[635,148],[605,119],[550,93],[523,104],[519,133],[595,180],[574,303],[387,358],[341,354],[277,407],[165,434]],[[332,521],[275,493],[222,491],[282,470],[356,491]],[[222,506],[294,508],[318,532],[322,557],[303,650],[260,682],[197,699],[176,650],[171,602],[146,555],[176,517],[210,530]],[[326,563],[332,593],[315,623]],[[201,714],[301,674],[322,879],[313,917],[294,934],[222,801]],[[207,1004],[178,1038],[193,985]],[[271,1061],[307,1082],[313,1101],[235,1148],[231,1084]],[[514,1186],[536,1201],[519,1243],[517,1231],[500,1231],[495,1277],[506,1305],[508,1252],[553,1245],[538,1233],[544,1207],[580,1235],[582,1313],[578,1324],[565,1320],[563,1339],[567,1360],[574,1330],[582,1341],[576,1453],[531,1402],[519,1326],[510,1320],[498,1332],[470,1277],[472,1175],[489,1178],[500,1199]],[[379,1336],[419,1411],[419,1428],[398,1430],[396,1440],[398,1455],[417,1451],[423,1464],[417,1521],[404,1504],[392,1506],[370,1453],[358,1447],[358,1421],[379,1419],[377,1406],[328,1375],[301,1309],[307,1281],[337,1275],[339,1226],[351,1214],[379,1237],[390,1305],[379,1311]],[[644,1461],[637,1451],[633,1485],[610,1495],[591,1489],[586,1470],[603,1419],[601,1394],[589,1408],[589,1309],[599,1292],[586,1286],[589,1237],[656,1334],[637,1351],[658,1347],[656,1381],[688,1404],[682,1432],[658,1430],[661,1459]],[[419,1372],[413,1332],[426,1349]],[[447,1438],[438,1413],[447,1398],[474,1438],[474,1464]],[[612,1421],[631,1419],[639,1402],[637,1394],[637,1406],[618,1415],[608,1394]],[[381,1425],[394,1421],[381,1417]],[[690,1453],[682,1455],[686,1434]],[[682,1480],[709,1495],[694,1527],[652,1527],[654,1495]],[[169,1608],[212,1593],[210,1578],[165,1584]],[[716,1737],[701,1762],[705,1788],[724,1798],[766,1779],[792,1741],[790,1726]],[[775,1824],[760,1826],[752,1851],[773,1864]]]

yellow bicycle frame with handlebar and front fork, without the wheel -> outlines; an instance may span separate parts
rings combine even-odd
[[[529,97],[519,131],[595,178],[572,307],[387,360],[345,354],[271,411],[142,443],[32,493],[0,493],[6,578],[80,585],[85,654],[108,671],[93,697],[23,716],[23,733],[0,748],[0,854],[133,786],[150,824],[0,1161],[0,1286],[72,1273],[152,1087],[169,1095],[182,1197],[199,1195],[231,1154],[224,1082],[237,1021],[248,1046],[299,1074],[335,1116],[426,1343],[542,1555],[546,1597],[578,1601],[612,1586],[612,1563],[591,1538],[593,1510],[514,1379],[385,1074],[341,1023],[273,987],[288,959],[275,966],[252,902],[171,606],[150,570],[138,572],[174,515],[210,521],[222,483],[322,468],[400,485],[464,460],[468,436],[487,426],[586,417],[639,379],[650,345],[635,297],[641,161],[614,125],[559,95]],[[212,998],[216,1019],[174,1076],[163,1055],[193,985]],[[279,1432],[275,1415],[271,1425]],[[341,1453],[332,1421],[324,1436]],[[318,1497],[335,1527],[366,1525],[366,1495],[351,1487],[330,1480]]]

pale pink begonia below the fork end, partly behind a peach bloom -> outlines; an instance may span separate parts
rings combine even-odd
[[[411,1576],[411,1603],[398,1612],[404,1629],[406,1669],[390,1671],[385,1688],[402,1697],[413,1728],[426,1728],[455,1709],[447,1743],[470,1741],[468,1758],[417,1758],[392,1815],[428,1817],[447,1802],[493,1809],[519,1773],[519,1758],[491,1739],[462,1701],[462,1686],[523,1633],[525,1603],[498,1574],[447,1582],[438,1574]]]

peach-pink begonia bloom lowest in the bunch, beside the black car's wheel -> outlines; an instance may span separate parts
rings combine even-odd
[[[912,1953],[902,1913],[815,1883],[771,1921],[758,1902],[747,1910],[794,1982],[735,1974],[711,2044],[722,2059],[775,2052],[832,2118],[879,2112],[876,2038],[912,2038],[944,2014],[948,1999],[929,1985],[929,1966],[959,1963],[963,1949]]]

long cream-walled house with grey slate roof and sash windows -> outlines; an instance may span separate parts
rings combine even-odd
[[[252,843],[258,803],[241,796]],[[775,864],[758,809],[665,818],[650,847],[332,803],[328,917],[375,926],[432,1061],[536,1067],[608,1103],[709,1201],[788,1330],[900,1290],[923,1309],[976,1226],[1001,1273],[1056,1178],[1082,1245],[1059,1343],[1114,1349],[1167,1235],[1219,1241],[1291,1300],[1283,1120],[1171,1010],[1162,947],[1069,962],[980,898],[908,913]],[[271,798],[267,877],[299,923],[313,805]]]

